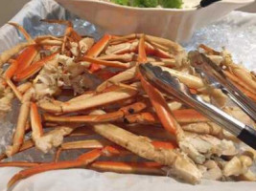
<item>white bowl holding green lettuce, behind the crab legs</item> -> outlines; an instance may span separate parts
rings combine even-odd
[[[220,19],[254,0],[222,0],[203,9],[131,8],[97,0],[56,0],[64,8],[101,27],[124,35],[145,32],[178,42],[190,39],[198,28]]]

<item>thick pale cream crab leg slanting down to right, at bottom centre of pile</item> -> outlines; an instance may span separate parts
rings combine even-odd
[[[104,113],[102,111],[92,113],[92,115],[97,114]],[[104,138],[111,140],[142,158],[151,159],[160,164],[172,167],[174,172],[184,180],[197,183],[201,178],[197,166],[190,159],[182,156],[177,151],[155,149],[148,139],[135,136],[113,124],[94,124],[93,129]]]

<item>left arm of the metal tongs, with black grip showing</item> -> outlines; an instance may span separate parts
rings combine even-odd
[[[160,91],[175,96],[176,99],[193,107],[199,113],[212,119],[228,132],[240,138],[244,143],[256,149],[256,131],[252,127],[229,116],[216,106],[205,102],[200,96],[192,94],[185,84],[170,73],[162,71],[160,67],[146,63],[141,64],[139,69],[141,74]]]

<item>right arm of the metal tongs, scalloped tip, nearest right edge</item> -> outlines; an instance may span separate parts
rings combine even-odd
[[[229,81],[222,72],[221,67],[216,65],[203,53],[190,52],[191,65],[200,74],[202,79],[213,88],[220,89],[221,92],[234,101],[252,120],[256,120],[256,104],[247,96],[244,96],[236,86]]]

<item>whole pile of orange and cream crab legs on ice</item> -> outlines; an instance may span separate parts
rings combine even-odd
[[[256,180],[249,169],[255,151],[243,152],[237,138],[183,103],[153,87],[138,71],[151,62],[175,75],[193,94],[219,105],[225,112],[255,125],[239,108],[227,107],[227,97],[209,87],[190,66],[183,48],[171,40],[137,33],[105,34],[98,42],[82,37],[69,21],[42,20],[66,26],[64,35],[32,38],[21,26],[10,23],[26,42],[0,55],[0,111],[11,111],[12,100],[20,112],[12,145],[0,159],[36,147],[43,153],[57,148],[52,162],[2,161],[0,166],[26,167],[16,181],[37,173],[74,167],[97,171],[173,175],[190,183],[201,179]],[[205,45],[199,49],[220,65],[230,80],[256,101],[256,77],[234,64],[226,50]],[[90,91],[92,75],[102,82]],[[61,96],[68,100],[60,100]],[[31,133],[31,138],[25,135]],[[86,136],[100,135],[99,139]],[[66,137],[85,137],[63,142]],[[91,149],[73,160],[61,160],[62,151]],[[146,161],[99,160],[135,155]]]

